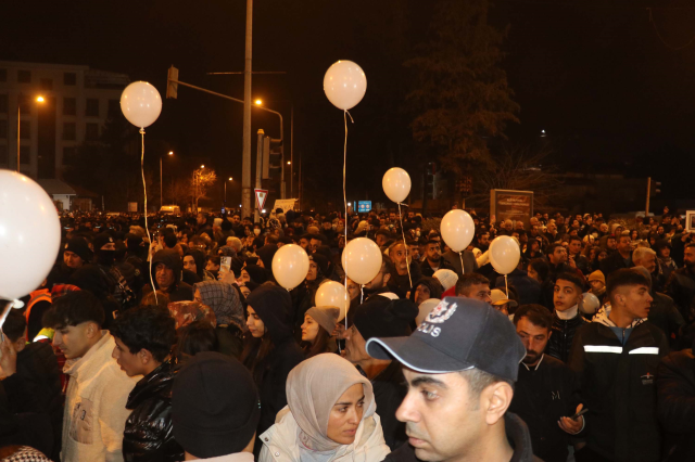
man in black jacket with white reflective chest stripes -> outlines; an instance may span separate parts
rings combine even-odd
[[[606,296],[610,306],[577,331],[569,359],[590,423],[586,447],[576,460],[658,461],[655,380],[668,343],[660,329],[645,322],[649,283],[636,271],[620,269],[608,278]]]

